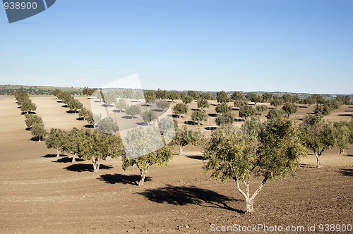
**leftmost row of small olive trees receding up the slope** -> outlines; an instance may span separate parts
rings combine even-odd
[[[30,130],[32,139],[40,142],[44,140],[47,135],[47,131],[44,128],[44,123],[40,116],[37,116],[34,111],[37,110],[37,106],[32,103],[30,96],[25,90],[16,90],[14,93],[17,104],[20,106],[21,111],[25,113],[25,125],[27,130]]]

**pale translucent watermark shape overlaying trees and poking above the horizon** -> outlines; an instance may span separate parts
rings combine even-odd
[[[160,101],[146,101],[137,74],[114,80],[92,94],[94,125],[103,133],[112,133],[114,128],[105,123],[114,123],[128,159],[144,156],[169,144],[175,136],[172,109],[157,107]]]

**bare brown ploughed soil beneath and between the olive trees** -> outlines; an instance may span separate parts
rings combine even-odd
[[[89,107],[85,97],[78,99]],[[86,124],[53,97],[32,101],[48,130]],[[214,108],[208,113],[215,113]],[[300,108],[292,117],[312,109]],[[328,119],[349,120],[342,116],[349,110],[342,106]],[[190,112],[177,120],[179,125],[189,121]],[[346,155],[338,149],[325,152],[320,169],[314,168],[312,154],[301,159],[297,176],[266,183],[250,215],[244,214],[244,199],[234,182],[215,182],[203,173],[196,147],[186,147],[185,155],[174,156],[167,167],[153,166],[145,185],[138,187],[137,168],[123,171],[119,159],[104,161],[100,172],[93,173],[88,161],[71,164],[65,155],[54,157],[56,151],[44,142],[30,141],[13,98],[0,98],[0,116],[0,233],[215,233],[215,227],[257,224],[304,226],[304,232],[292,233],[319,233],[320,223],[353,224],[353,146]],[[205,128],[213,125],[189,127],[210,133]],[[309,232],[313,225],[316,232]]]

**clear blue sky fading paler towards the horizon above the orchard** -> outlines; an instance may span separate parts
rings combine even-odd
[[[0,84],[353,93],[349,0],[57,0],[0,35]]]

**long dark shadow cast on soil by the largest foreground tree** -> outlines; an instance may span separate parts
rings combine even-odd
[[[226,202],[235,202],[237,199],[220,195],[212,190],[207,190],[195,186],[173,186],[159,187],[156,189],[138,192],[152,202],[168,203],[175,206],[184,206],[187,204],[195,204],[200,207],[213,207],[218,209],[227,209],[244,214],[244,211],[229,207]]]

